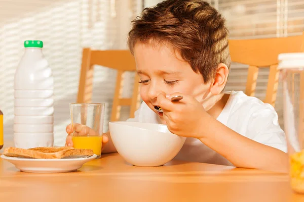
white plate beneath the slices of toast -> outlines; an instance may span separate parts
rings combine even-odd
[[[84,163],[96,158],[96,155],[87,158],[70,159],[25,159],[7,157],[1,155],[2,159],[14,164],[17,169],[28,173],[63,173],[80,169]]]

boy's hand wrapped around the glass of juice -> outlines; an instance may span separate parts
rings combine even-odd
[[[72,134],[78,133],[79,135],[96,135],[96,132],[92,129],[89,128],[88,126],[81,125],[81,124],[74,124],[74,128],[72,128],[72,124],[69,124],[66,126],[66,132],[67,132],[67,137],[65,139],[65,146],[73,146],[72,142]],[[109,138],[108,136],[103,133],[102,134],[102,147],[104,148],[104,145],[108,142]]]

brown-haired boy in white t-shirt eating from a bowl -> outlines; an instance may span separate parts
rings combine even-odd
[[[146,8],[133,21],[128,44],[143,100],[128,121],[163,123],[186,136],[175,159],[286,172],[285,135],[274,108],[241,91],[223,92],[228,31],[208,3],[167,0]],[[171,102],[175,95],[183,98]],[[66,131],[72,133],[70,125]],[[116,151],[109,137],[103,153]],[[69,135],[66,144],[72,145]]]

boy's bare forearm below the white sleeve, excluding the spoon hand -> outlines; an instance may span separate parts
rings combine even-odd
[[[242,168],[287,172],[286,153],[240,135],[212,117],[208,119],[209,124],[203,124],[205,127],[201,128],[199,139],[232,164]]]

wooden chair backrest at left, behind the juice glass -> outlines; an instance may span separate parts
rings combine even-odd
[[[124,73],[136,71],[135,60],[127,50],[95,51],[90,48],[83,49],[82,66],[79,81],[77,103],[90,103],[93,90],[94,65],[100,65],[117,70],[115,94],[113,98],[110,121],[118,121],[121,106],[130,106],[130,118],[139,106],[139,83],[135,74],[133,94],[131,98],[122,97]]]

